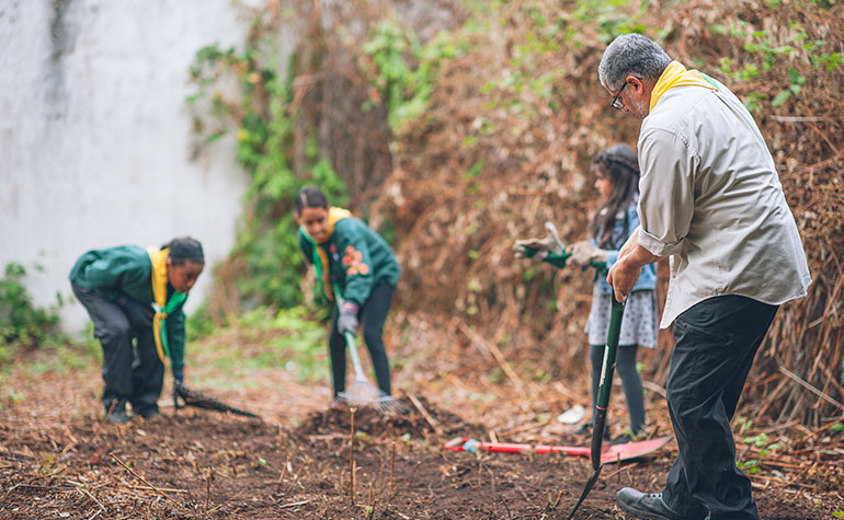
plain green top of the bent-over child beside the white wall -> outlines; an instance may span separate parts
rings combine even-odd
[[[70,281],[92,289],[100,297],[116,302],[122,297],[151,308],[152,263],[147,250],[137,245],[119,245],[93,250],[79,257],[70,270]],[[168,299],[173,287],[167,285]],[[182,307],[167,317],[167,337],[173,370],[184,369],[184,312]]]

